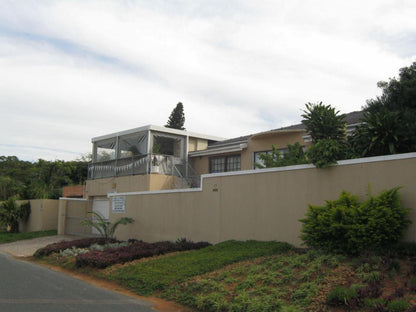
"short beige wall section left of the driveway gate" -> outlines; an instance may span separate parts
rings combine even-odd
[[[24,203],[27,201],[18,201]],[[30,217],[27,223],[20,224],[21,232],[56,230],[58,227],[58,205],[55,199],[31,199]]]

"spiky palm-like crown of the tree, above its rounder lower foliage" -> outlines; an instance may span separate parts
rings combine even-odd
[[[306,131],[311,135],[314,143],[319,140],[346,140],[345,114],[339,115],[339,111],[331,105],[308,103],[302,114],[302,123]]]

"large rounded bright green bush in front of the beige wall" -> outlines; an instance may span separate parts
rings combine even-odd
[[[301,239],[307,246],[352,255],[392,246],[411,223],[409,209],[401,206],[398,187],[362,203],[344,191],[325,206],[309,205],[300,222]]]

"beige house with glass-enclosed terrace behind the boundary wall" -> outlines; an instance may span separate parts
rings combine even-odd
[[[347,114],[347,133],[360,123],[362,112]],[[109,192],[155,191],[199,186],[201,174],[255,169],[259,155],[275,145],[311,144],[303,124],[233,139],[159,126],[145,126],[92,139],[88,198]]]

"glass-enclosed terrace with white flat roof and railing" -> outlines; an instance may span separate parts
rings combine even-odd
[[[199,186],[199,177],[188,164],[188,152],[201,141],[218,138],[158,126],[145,126],[92,139],[88,179],[128,175],[163,174],[180,178],[179,187]]]

